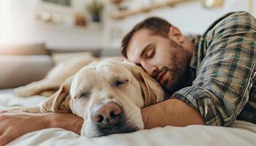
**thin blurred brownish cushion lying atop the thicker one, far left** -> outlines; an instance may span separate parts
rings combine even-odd
[[[44,43],[26,45],[0,45],[0,55],[48,55]]]

